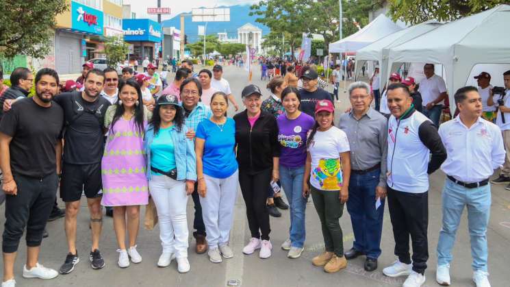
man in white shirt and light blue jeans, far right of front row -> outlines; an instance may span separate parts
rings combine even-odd
[[[483,99],[473,86],[455,92],[459,116],[439,127],[448,158],[441,169],[446,173],[442,192],[443,227],[437,242],[436,281],[450,285],[450,262],[455,234],[462,212],[468,209],[468,226],[476,287],[488,287],[487,224],[491,209],[489,177],[505,162],[500,129],[482,115]]]

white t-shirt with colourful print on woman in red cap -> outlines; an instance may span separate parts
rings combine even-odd
[[[320,190],[340,190],[344,182],[340,153],[350,151],[347,135],[337,127],[317,131],[308,151],[311,155],[310,184]]]

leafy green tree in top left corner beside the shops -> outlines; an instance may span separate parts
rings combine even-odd
[[[3,0],[0,13],[0,58],[23,54],[44,58],[55,16],[68,10],[66,0]]]

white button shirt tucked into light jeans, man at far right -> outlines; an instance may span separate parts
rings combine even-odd
[[[470,128],[457,116],[439,126],[448,157],[441,170],[461,182],[481,182],[505,162],[500,129],[479,117]]]

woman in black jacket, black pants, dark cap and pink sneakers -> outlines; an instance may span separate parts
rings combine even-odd
[[[236,114],[235,144],[239,164],[239,183],[246,204],[246,216],[250,227],[251,239],[242,249],[251,254],[261,249],[260,258],[271,255],[269,241],[269,214],[266,209],[267,188],[270,182],[279,179],[279,144],[276,118],[260,110],[262,92],[255,85],[242,90],[244,112]]]

